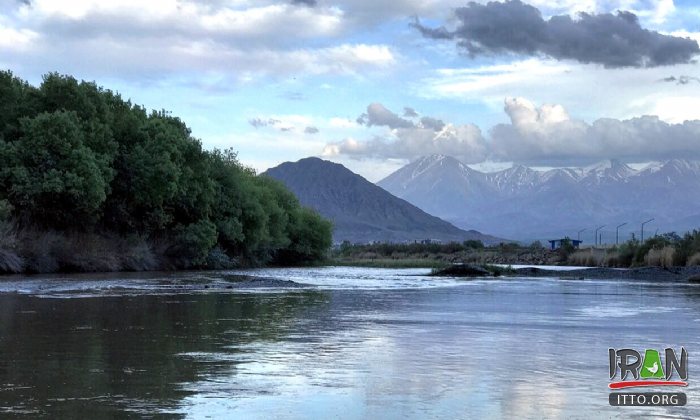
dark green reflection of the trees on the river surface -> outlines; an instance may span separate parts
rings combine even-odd
[[[234,369],[237,361],[180,357],[274,342],[318,292],[90,299],[0,296],[0,406],[78,417],[175,408],[180,384]]]

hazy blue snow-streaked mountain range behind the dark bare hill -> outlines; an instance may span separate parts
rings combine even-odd
[[[463,228],[532,240],[581,236],[591,243],[597,226],[603,241],[639,235],[655,218],[652,234],[700,227],[700,163],[669,160],[635,170],[616,160],[585,168],[537,171],[517,165],[484,173],[433,155],[378,182],[390,193]]]

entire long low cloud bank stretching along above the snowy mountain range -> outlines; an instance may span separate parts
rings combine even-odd
[[[524,98],[507,98],[504,111],[510,123],[497,124],[483,136],[476,125],[455,125],[433,117],[392,128],[396,124],[387,122],[395,123],[396,114],[381,104],[373,105],[385,116],[380,125],[387,131],[367,140],[349,137],[328,143],[323,156],[414,160],[437,153],[470,164],[533,166],[582,166],[613,158],[627,162],[700,159],[700,120],[669,123],[645,115],[587,123],[572,118],[561,105],[537,106]]]

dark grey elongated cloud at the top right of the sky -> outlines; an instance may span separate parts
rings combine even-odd
[[[579,13],[546,20],[519,0],[471,2],[455,11],[457,26],[413,26],[425,37],[455,40],[469,55],[544,55],[608,68],[689,63],[700,52],[695,40],[644,29],[631,12]]]

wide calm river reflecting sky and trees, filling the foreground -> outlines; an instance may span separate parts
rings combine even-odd
[[[0,417],[700,418],[700,285],[427,274],[0,279]],[[608,348],[681,346],[687,406],[608,405]]]

